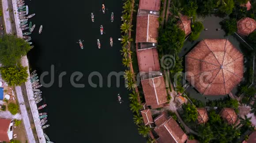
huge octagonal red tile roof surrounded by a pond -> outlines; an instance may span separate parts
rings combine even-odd
[[[186,78],[203,95],[226,95],[243,78],[244,57],[227,39],[205,39],[186,55]]]

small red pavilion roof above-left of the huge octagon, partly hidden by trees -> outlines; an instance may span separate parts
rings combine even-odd
[[[182,15],[180,20],[177,22],[178,27],[185,32],[185,35],[188,36],[188,34],[191,33],[191,20],[188,18],[188,16]]]

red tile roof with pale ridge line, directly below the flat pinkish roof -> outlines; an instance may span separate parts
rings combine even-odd
[[[166,84],[163,76],[141,80],[141,84],[148,106],[167,102]]]

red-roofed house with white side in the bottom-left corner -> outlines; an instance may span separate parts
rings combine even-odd
[[[13,136],[13,122],[11,119],[0,118],[0,142],[10,142]]]

